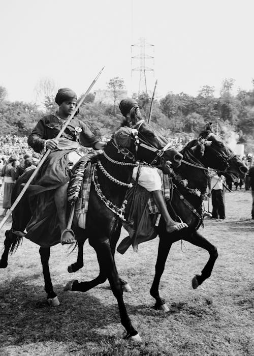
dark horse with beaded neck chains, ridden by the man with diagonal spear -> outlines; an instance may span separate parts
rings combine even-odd
[[[120,217],[124,211],[124,198],[137,160],[152,163],[154,166],[162,161],[170,160],[173,165],[179,166],[182,155],[144,120],[141,120],[135,110],[131,111],[132,129],[127,127],[119,129],[114,138],[108,142],[104,153],[98,156],[101,163],[97,162],[93,175],[86,228],[81,229],[73,224],[73,229],[78,241],[84,242],[88,238],[89,244],[96,250],[101,270],[100,279],[109,280],[112,292],[117,299],[121,323],[126,329],[126,338],[140,341],[140,336],[134,329],[123,302],[122,285],[114,261],[115,245],[111,244],[111,240],[115,234],[119,234],[121,229]],[[25,173],[17,181],[13,200],[20,191],[20,185],[27,181],[30,174]],[[13,212],[12,228],[5,233],[5,249],[0,268],[6,268],[8,253],[15,251],[19,245],[29,219],[28,196],[25,194]],[[53,290],[48,264],[50,247],[40,247],[40,256],[48,301],[51,305],[57,306],[59,302]],[[90,282],[87,289],[93,286],[94,282]]]

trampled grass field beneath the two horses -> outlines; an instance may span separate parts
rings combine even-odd
[[[206,202],[207,203],[207,202]],[[226,193],[226,220],[205,220],[200,232],[219,253],[211,277],[196,290],[191,281],[203,269],[208,254],[185,243],[172,246],[161,282],[168,313],[152,309],[149,294],[158,239],[116,254],[118,272],[133,288],[124,301],[141,345],[122,340],[116,300],[106,282],[86,293],[65,292],[71,279],[98,274],[96,254],[86,243],[85,265],[70,275],[67,246],[51,249],[52,282],[60,306],[46,304],[37,245],[24,239],[9,265],[0,270],[1,355],[254,355],[253,246],[251,192]],[[0,234],[3,247],[4,231]],[[125,236],[125,234],[123,234]]]

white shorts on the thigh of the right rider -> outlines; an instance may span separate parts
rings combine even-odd
[[[157,168],[153,167],[141,167],[139,172],[138,184],[148,190],[148,192],[153,192],[154,190],[162,190],[162,180],[158,173]],[[138,167],[134,167],[132,177],[134,181],[137,178]]]

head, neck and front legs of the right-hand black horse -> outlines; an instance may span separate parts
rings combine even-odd
[[[195,154],[195,152],[192,151],[191,146],[203,139],[210,142],[211,145],[206,147],[203,157],[200,157],[197,153]],[[150,294],[156,301],[154,308],[166,311],[168,310],[168,307],[166,306],[165,301],[161,298],[158,288],[172,244],[176,241],[184,240],[198,247],[202,247],[209,253],[209,259],[204,266],[201,275],[195,275],[192,280],[194,289],[210,277],[214,263],[218,257],[216,247],[197,231],[202,224],[202,197],[206,192],[209,180],[206,170],[207,167],[209,166],[217,170],[224,170],[218,168],[218,166],[215,167],[214,165],[215,162],[213,157],[219,155],[228,163],[229,167],[226,169],[226,172],[233,181],[243,179],[247,172],[247,167],[243,161],[232,152],[228,145],[226,145],[219,136],[212,133],[211,128],[203,131],[200,138],[197,141],[190,142],[181,153],[184,158],[183,163],[181,167],[174,170],[182,177],[182,179],[188,181],[188,186],[184,188],[181,184],[175,182],[176,189],[173,190],[169,210],[172,211],[172,214],[179,216],[186,222],[188,228],[168,234],[165,229],[164,221],[162,220],[159,224],[158,236],[160,238],[160,243],[155,264],[155,275],[150,289]],[[193,194],[196,189],[201,192],[200,197]]]

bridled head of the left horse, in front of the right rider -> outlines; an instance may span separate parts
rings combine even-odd
[[[180,152],[145,122],[138,107],[131,109],[129,124],[133,138],[133,145],[130,149],[134,149],[137,160],[152,165],[165,165],[168,161],[174,167],[181,165],[182,155]]]

